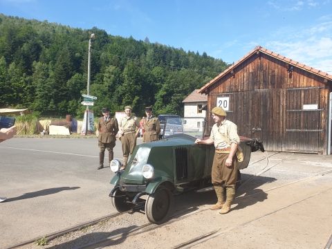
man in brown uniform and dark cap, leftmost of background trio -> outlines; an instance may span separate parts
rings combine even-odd
[[[109,162],[113,160],[113,148],[116,146],[116,133],[119,131],[118,120],[109,116],[109,109],[102,109],[102,118],[99,119],[97,130],[98,134],[98,146],[100,147],[99,153],[99,167],[104,167],[104,154],[105,149],[109,151]]]

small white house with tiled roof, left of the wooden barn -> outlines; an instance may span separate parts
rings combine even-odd
[[[195,89],[187,98],[183,100],[185,104],[185,124],[184,129],[192,131],[203,131],[203,121],[205,118],[205,110],[208,104],[208,95],[197,93],[199,89]]]

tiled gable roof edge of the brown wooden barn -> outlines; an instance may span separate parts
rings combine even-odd
[[[317,70],[311,66],[306,66],[302,63],[296,62],[293,59],[288,59],[287,57],[284,57],[283,55],[279,55],[277,53],[274,53],[273,51],[270,51],[266,48],[263,48],[261,46],[257,46],[254,50],[250,51],[250,53],[248,53],[247,55],[245,55],[244,57],[242,57],[241,59],[239,59],[239,61],[237,61],[236,63],[232,64],[232,66],[230,66],[229,68],[227,68],[225,71],[223,71],[221,74],[219,74],[218,76],[214,77],[214,79],[210,80],[210,82],[208,82],[207,84],[205,84],[205,86],[202,86],[201,89],[199,89],[198,93],[204,93],[206,89],[208,89],[209,86],[211,86],[212,84],[214,84],[214,82],[216,82],[217,80],[221,79],[224,75],[226,75],[227,73],[229,73],[230,71],[232,71],[232,69],[236,68],[237,66],[239,66],[239,64],[241,64],[242,62],[244,62],[246,59],[248,59],[249,57],[251,57],[252,55],[255,55],[255,53],[264,53],[266,55],[269,55],[270,57],[274,57],[276,59],[279,59],[282,62],[286,62],[292,66],[296,66],[297,68],[302,68],[305,71],[308,71],[310,73],[313,73],[315,75],[319,75],[327,80],[332,80],[332,75],[329,75],[329,73],[325,73],[323,71]]]

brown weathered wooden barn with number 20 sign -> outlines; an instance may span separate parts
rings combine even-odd
[[[199,93],[208,94],[210,129],[211,109],[219,106],[240,136],[258,138],[268,151],[326,155],[331,89],[332,75],[257,46]]]

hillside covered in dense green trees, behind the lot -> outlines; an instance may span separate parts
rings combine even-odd
[[[82,116],[85,107],[89,37],[91,107],[121,111],[130,104],[139,116],[183,115],[182,100],[228,66],[203,53],[186,52],[149,39],[137,41],[92,28],[82,30],[48,21],[0,14],[0,108],[24,107],[45,115]]]

